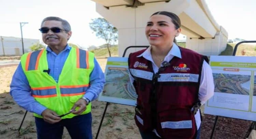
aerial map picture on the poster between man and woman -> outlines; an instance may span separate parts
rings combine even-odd
[[[105,80],[102,96],[137,99],[135,89],[130,83],[128,68],[108,67]]]

